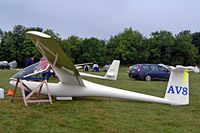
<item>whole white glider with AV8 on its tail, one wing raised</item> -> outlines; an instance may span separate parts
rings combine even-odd
[[[185,67],[177,67],[171,70],[164,98],[137,92],[131,92],[127,90],[92,83],[81,79],[78,70],[74,67],[72,61],[59,47],[59,45],[53,37],[37,31],[29,31],[27,32],[27,34],[31,37],[33,43],[41,52],[41,54],[47,58],[49,64],[51,65],[52,69],[55,71],[56,75],[60,80],[59,83],[48,83],[49,90],[52,96],[98,96],[138,100],[145,102],[156,102],[170,105],[189,104],[189,73],[188,69]],[[109,76],[112,75],[113,73],[111,71],[109,73]],[[36,88],[36,86],[40,84],[39,82],[27,80],[24,80],[23,82],[30,89]],[[16,80],[12,78],[10,84],[15,86]],[[46,89],[43,89],[41,93],[47,94]]]

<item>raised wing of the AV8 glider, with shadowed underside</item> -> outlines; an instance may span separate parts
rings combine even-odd
[[[78,70],[53,37],[38,31],[29,31],[27,34],[62,83],[84,86]]]

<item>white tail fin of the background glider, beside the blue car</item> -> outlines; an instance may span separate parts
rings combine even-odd
[[[104,76],[105,79],[117,80],[119,65],[120,65],[119,60],[113,60],[110,68],[108,69],[106,75]]]

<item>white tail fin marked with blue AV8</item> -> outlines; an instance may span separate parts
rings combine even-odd
[[[189,72],[187,68],[172,69],[165,99],[173,105],[189,104]]]

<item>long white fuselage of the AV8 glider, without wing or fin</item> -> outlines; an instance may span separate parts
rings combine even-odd
[[[30,88],[35,88],[39,82],[26,81],[23,82]],[[118,88],[108,87],[96,83],[92,83],[86,80],[83,80],[85,86],[74,86],[59,83],[48,83],[50,92],[52,96],[55,97],[83,97],[83,96],[97,96],[97,97],[110,97],[110,98],[121,98],[127,100],[139,100],[147,102],[156,102],[164,104],[173,104],[167,99],[150,96],[146,94],[141,94],[137,92],[131,92],[127,90],[122,90]],[[15,85],[15,81],[11,81],[12,85]],[[20,85],[19,85],[20,87]],[[43,86],[45,87],[45,86]],[[42,94],[47,94],[46,89],[42,89]]]

